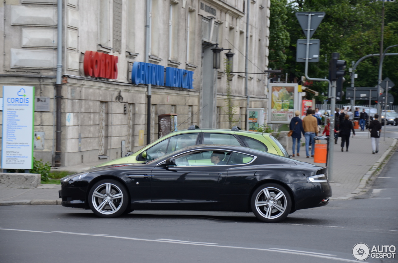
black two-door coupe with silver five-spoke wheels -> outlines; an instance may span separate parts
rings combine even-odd
[[[278,222],[332,196],[326,167],[230,145],[195,145],[144,164],[61,179],[62,206],[113,218],[139,210],[252,211]]]

